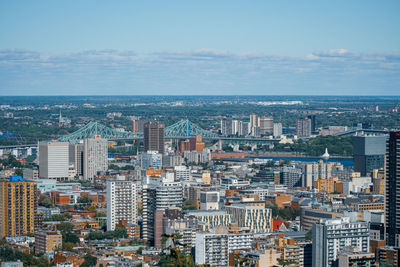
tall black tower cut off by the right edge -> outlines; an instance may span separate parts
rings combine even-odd
[[[400,132],[390,132],[385,166],[386,245],[400,247]]]

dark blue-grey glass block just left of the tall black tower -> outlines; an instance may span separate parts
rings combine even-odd
[[[385,165],[386,136],[353,136],[354,170],[361,176]]]

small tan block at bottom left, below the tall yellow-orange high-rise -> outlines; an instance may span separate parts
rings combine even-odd
[[[62,235],[58,231],[43,231],[35,234],[35,253],[52,253],[62,247]]]

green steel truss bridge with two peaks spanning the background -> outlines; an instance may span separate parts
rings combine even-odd
[[[85,138],[91,138],[94,135],[100,135],[102,138],[108,140],[140,140],[143,139],[143,132],[120,132],[101,123],[91,121],[79,130],[68,134],[62,135],[58,138],[59,141],[76,141]],[[187,139],[193,135],[201,135],[206,140],[222,140],[229,143],[256,143],[267,144],[276,143],[280,139],[268,138],[253,138],[253,137],[225,137],[220,136],[208,130],[202,129],[200,126],[191,123],[189,120],[180,120],[177,123],[165,128],[165,139]]]

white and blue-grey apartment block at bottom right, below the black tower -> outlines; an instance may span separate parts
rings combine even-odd
[[[333,266],[345,247],[369,252],[369,225],[349,217],[321,219],[313,225],[312,266]]]

